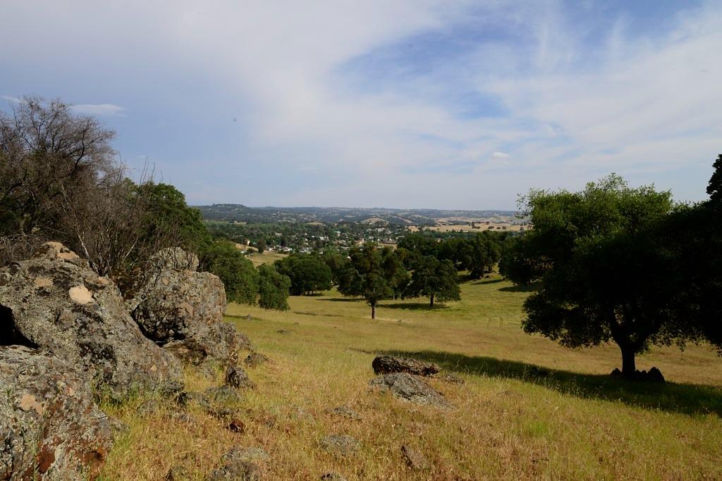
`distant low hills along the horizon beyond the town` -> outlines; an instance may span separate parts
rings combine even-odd
[[[514,211],[439,211],[436,209],[395,209],[358,207],[247,207],[242,204],[196,206],[206,220],[238,222],[363,222],[433,226],[440,222],[479,219],[516,220]]]

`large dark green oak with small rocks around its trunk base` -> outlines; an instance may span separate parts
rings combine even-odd
[[[532,190],[524,201],[534,229],[510,246],[501,267],[533,288],[526,332],[569,347],[613,340],[626,376],[650,345],[695,338],[671,310],[676,262],[658,236],[673,208],[669,192],[610,175],[578,193]]]

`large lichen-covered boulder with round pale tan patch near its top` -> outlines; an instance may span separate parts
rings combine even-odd
[[[83,366],[113,395],[183,379],[180,363],[143,336],[113,281],[57,242],[0,268],[0,345],[12,344]]]

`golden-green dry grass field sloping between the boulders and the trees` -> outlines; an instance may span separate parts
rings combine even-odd
[[[655,348],[638,369],[657,366],[665,385],[607,376],[613,346],[569,350],[521,331],[526,294],[499,278],[464,283],[462,301],[428,309],[424,299],[386,301],[379,319],[361,300],[335,293],[290,299],[290,312],[230,305],[228,317],[270,363],[248,374],[256,389],[236,408],[245,432],[199,407],[177,420],[170,402],[142,414],[137,398],[105,408],[129,425],[104,480],[162,480],[171,467],[201,480],[231,446],[258,446],[264,479],[318,480],[682,480],[722,479],[722,359],[707,346]],[[251,319],[248,319],[248,314]],[[454,408],[438,410],[370,392],[378,353],[435,361],[464,385],[430,381]],[[193,369],[188,390],[219,384]],[[360,420],[332,415],[345,405]],[[177,409],[177,408],[175,408]],[[328,434],[361,448],[321,449]],[[401,445],[432,464],[412,472]],[[178,478],[173,478],[178,479]],[[183,478],[181,478],[183,479]]]

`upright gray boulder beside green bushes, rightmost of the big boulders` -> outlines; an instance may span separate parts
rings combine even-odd
[[[178,248],[155,257],[147,281],[129,301],[131,316],[144,335],[186,363],[233,363],[248,338],[223,322],[223,283],[196,272],[198,259]]]

